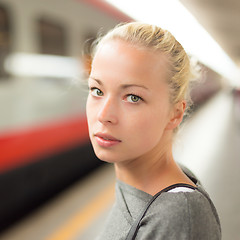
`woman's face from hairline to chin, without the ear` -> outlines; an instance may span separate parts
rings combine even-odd
[[[132,161],[163,147],[171,112],[166,69],[164,56],[121,40],[97,50],[86,109],[99,159]]]

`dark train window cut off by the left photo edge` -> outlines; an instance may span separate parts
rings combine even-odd
[[[10,22],[9,14],[5,7],[0,6],[0,78],[8,77],[4,69],[4,61],[10,53]]]

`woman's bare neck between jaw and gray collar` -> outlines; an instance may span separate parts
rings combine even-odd
[[[115,172],[119,180],[151,195],[175,183],[194,185],[175,163],[171,144],[137,159],[115,163]]]

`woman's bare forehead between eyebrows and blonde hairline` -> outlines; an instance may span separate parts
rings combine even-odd
[[[139,48],[122,40],[109,40],[97,49],[91,74],[102,80],[156,85],[166,82],[167,59],[164,54],[147,48]]]

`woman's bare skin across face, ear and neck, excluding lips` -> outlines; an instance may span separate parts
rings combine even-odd
[[[110,40],[97,50],[89,77],[86,110],[97,157],[114,163],[119,180],[151,195],[175,183],[194,186],[172,156],[186,103],[170,103],[167,67],[160,53]],[[118,144],[99,145],[99,132]]]

